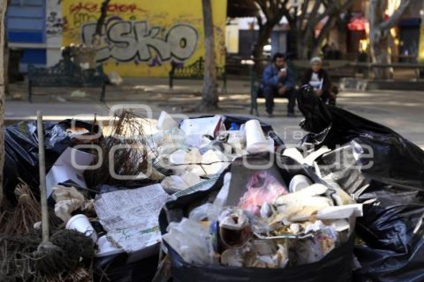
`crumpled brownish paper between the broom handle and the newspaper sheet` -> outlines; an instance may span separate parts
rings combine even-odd
[[[92,210],[93,200],[86,200],[84,196],[73,186],[66,187],[57,185],[53,187],[54,213],[58,218],[67,222],[76,210]]]

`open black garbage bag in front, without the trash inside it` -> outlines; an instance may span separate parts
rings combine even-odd
[[[275,153],[258,153],[247,155],[246,158],[249,164],[256,165],[258,168],[246,168],[243,157],[239,157],[234,160],[226,171],[222,172],[219,179],[210,189],[187,194],[167,202],[159,217],[162,234],[167,232],[166,229],[169,222],[179,222],[183,217],[188,217],[193,208],[206,202],[212,202],[222,187],[223,177],[228,171],[231,171],[231,181],[227,203],[231,202],[231,197],[235,197],[230,193],[236,189],[244,189],[243,186],[245,186],[249,176],[257,171],[263,171],[263,168],[260,167],[265,163],[271,163],[270,160],[273,162],[270,167],[266,168],[266,171],[270,171],[273,176],[278,177],[279,181],[282,181],[287,186],[289,179],[295,174],[303,174],[312,180],[312,182],[327,185],[314,174],[310,167],[300,165],[290,157],[277,156]],[[274,174],[275,172],[279,173],[279,175]],[[174,282],[263,282],[264,279],[267,282],[344,282],[352,280],[353,239],[354,237],[350,236],[346,242],[332,250],[318,262],[284,269],[199,266],[185,262],[171,246],[166,242],[165,244],[171,258]]]

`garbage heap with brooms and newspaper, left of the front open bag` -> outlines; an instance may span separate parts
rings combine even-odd
[[[249,136],[254,139],[246,138],[252,130],[256,132]],[[0,244],[7,255],[1,258],[1,278],[83,281],[94,275],[96,280],[107,276],[126,281],[144,265],[138,279],[151,280],[162,240],[158,215],[164,204],[177,197],[176,192],[207,189],[236,156],[262,148],[273,151],[282,141],[265,137],[269,131],[271,127],[256,120],[223,116],[179,124],[165,112],[155,121],[123,111],[103,129],[96,122],[44,122],[50,238],[71,240],[65,249],[75,250],[73,255],[81,260],[69,264],[63,256],[49,254],[61,263],[49,260],[41,269],[36,256],[42,245],[38,128],[33,121],[7,127],[6,201],[0,218]],[[74,230],[91,243],[76,238]],[[12,241],[13,236],[21,238]],[[31,242],[26,247],[25,240]]]

